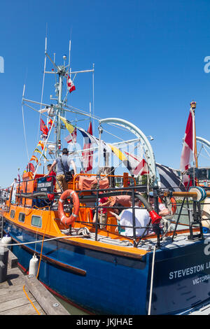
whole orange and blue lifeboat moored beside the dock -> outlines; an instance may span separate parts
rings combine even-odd
[[[180,186],[161,188],[153,148],[137,125],[120,118],[99,119],[99,137],[94,138],[101,154],[107,145],[102,141],[104,125],[119,126],[132,132],[135,141],[144,148],[148,168],[148,180],[144,185],[126,170],[117,175],[109,167],[108,160],[103,165],[100,157],[97,173],[87,174],[84,168],[77,174],[71,173],[68,189],[61,193],[55,190],[52,177],[51,181],[47,181],[50,176],[46,176],[46,172],[38,174],[39,164],[46,166],[48,153],[52,159],[61,153],[62,129],[66,131],[66,127],[70,127],[72,132],[77,127],[84,132],[73,125],[73,120],[67,120],[65,114],[76,112],[94,118],[91,113],[69,107],[66,97],[62,96],[63,85],[66,85],[66,80],[69,83],[73,75],[69,65],[55,64],[46,48],[45,58],[52,63],[53,71],[50,73],[58,77],[57,100],[55,104],[33,102],[45,106],[41,113],[45,114],[48,123],[51,120],[51,125],[39,142],[43,148],[36,166],[31,165],[31,161],[37,159],[33,155],[22,179],[15,185],[15,194],[13,186],[8,197],[4,197],[6,200],[1,202],[4,222],[1,244],[11,248],[26,273],[29,272],[31,258],[36,256],[39,281],[55,295],[90,314],[192,314],[209,304],[210,233],[203,230],[201,204],[210,197],[210,192],[200,186],[191,186],[188,190],[181,190]],[[74,71],[74,74],[77,73]],[[67,87],[72,86],[73,80]],[[23,103],[27,102],[30,101],[25,98],[24,92]],[[50,141],[52,130],[56,130],[53,143]],[[113,154],[117,153],[123,162],[126,157],[118,146],[109,144]],[[94,147],[85,151],[93,152]],[[116,186],[119,180],[120,184]],[[146,194],[149,192],[153,192],[155,209],[148,202]],[[105,228],[98,219],[93,223],[92,218],[92,207],[98,215],[102,208],[99,199],[102,197],[113,201],[106,207]],[[129,204],[121,204],[122,209],[132,208],[134,214],[134,198],[137,198],[141,207],[150,214],[150,221],[141,237],[136,235],[135,222],[133,237],[126,237],[120,230],[116,232],[119,223],[111,210],[120,197],[129,199]],[[165,217],[168,224],[165,227],[160,225],[162,218],[158,214],[160,198],[168,206],[171,204],[172,209],[171,214]],[[180,204],[177,198],[181,199]],[[186,204],[189,221],[183,224],[181,214]]]

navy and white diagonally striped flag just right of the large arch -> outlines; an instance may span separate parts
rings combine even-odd
[[[160,188],[167,188],[172,192],[185,192],[186,188],[181,181],[179,171],[156,163],[160,176]]]

